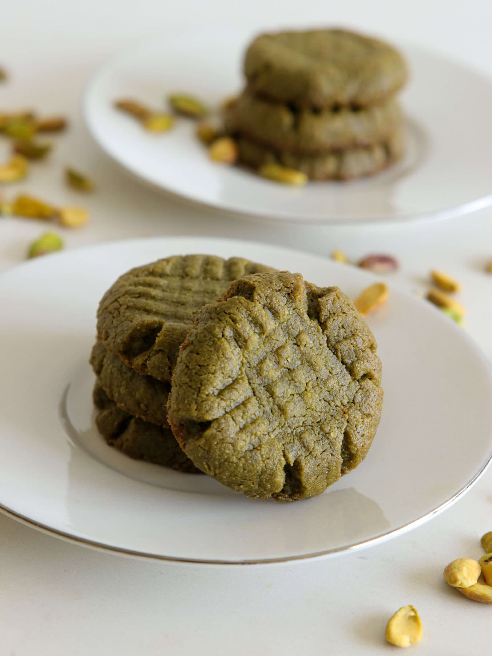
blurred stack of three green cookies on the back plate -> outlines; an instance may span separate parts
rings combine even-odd
[[[407,67],[387,43],[347,30],[264,34],[246,52],[244,75],[225,124],[254,169],[276,163],[312,180],[349,180],[404,152],[395,96]]]

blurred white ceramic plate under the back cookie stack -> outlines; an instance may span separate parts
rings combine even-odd
[[[159,136],[113,108],[132,96],[164,107],[184,90],[216,107],[243,84],[251,33],[208,29],[148,43],[109,61],[85,94],[86,124],[125,169],[162,190],[242,215],[300,223],[447,218],[492,202],[492,84],[440,54],[403,47],[412,77],[402,94],[409,144],[403,161],[354,182],[289,188],[208,159],[195,123]]]

